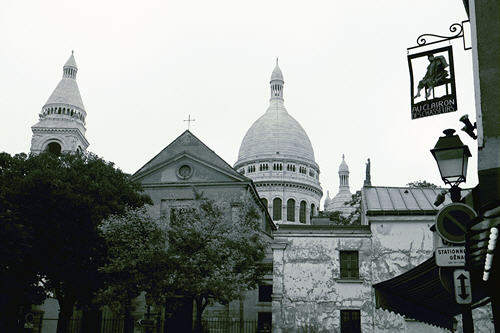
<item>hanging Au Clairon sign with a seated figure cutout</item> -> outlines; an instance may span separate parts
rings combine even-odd
[[[408,55],[411,118],[457,111],[452,46]]]

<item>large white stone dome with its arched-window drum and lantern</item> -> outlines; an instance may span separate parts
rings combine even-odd
[[[323,190],[306,131],[285,109],[283,73],[276,63],[267,111],[248,129],[234,168],[252,179],[274,222],[311,223]]]

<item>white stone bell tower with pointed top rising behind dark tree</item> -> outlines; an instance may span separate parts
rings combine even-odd
[[[42,151],[69,153],[85,151],[89,146],[85,138],[85,118],[80,90],[76,83],[76,66],[73,52],[63,67],[63,77],[42,107],[39,121],[31,127],[31,152]]]

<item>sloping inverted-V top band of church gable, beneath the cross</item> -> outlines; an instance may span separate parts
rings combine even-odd
[[[148,171],[156,169],[158,166],[165,164],[172,158],[183,153],[189,154],[191,156],[196,156],[198,159],[206,161],[208,164],[221,169],[226,174],[229,174],[238,180],[251,182],[250,178],[247,178],[239,172],[236,172],[236,170],[234,170],[229,164],[227,164],[226,161],[219,157],[219,155],[217,155],[213,150],[208,148],[189,130],[184,131],[184,133],[179,135],[155,157],[149,160],[149,162],[144,164],[144,166],[142,166],[132,175],[132,178],[138,178],[146,174]]]

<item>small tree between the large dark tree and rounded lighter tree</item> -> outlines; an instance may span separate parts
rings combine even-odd
[[[108,262],[101,268],[105,286],[99,301],[124,314],[124,332],[129,333],[133,331],[132,300],[143,291],[158,299],[158,282],[168,275],[166,233],[161,220],[153,218],[145,207],[111,215],[100,230],[108,248]]]

